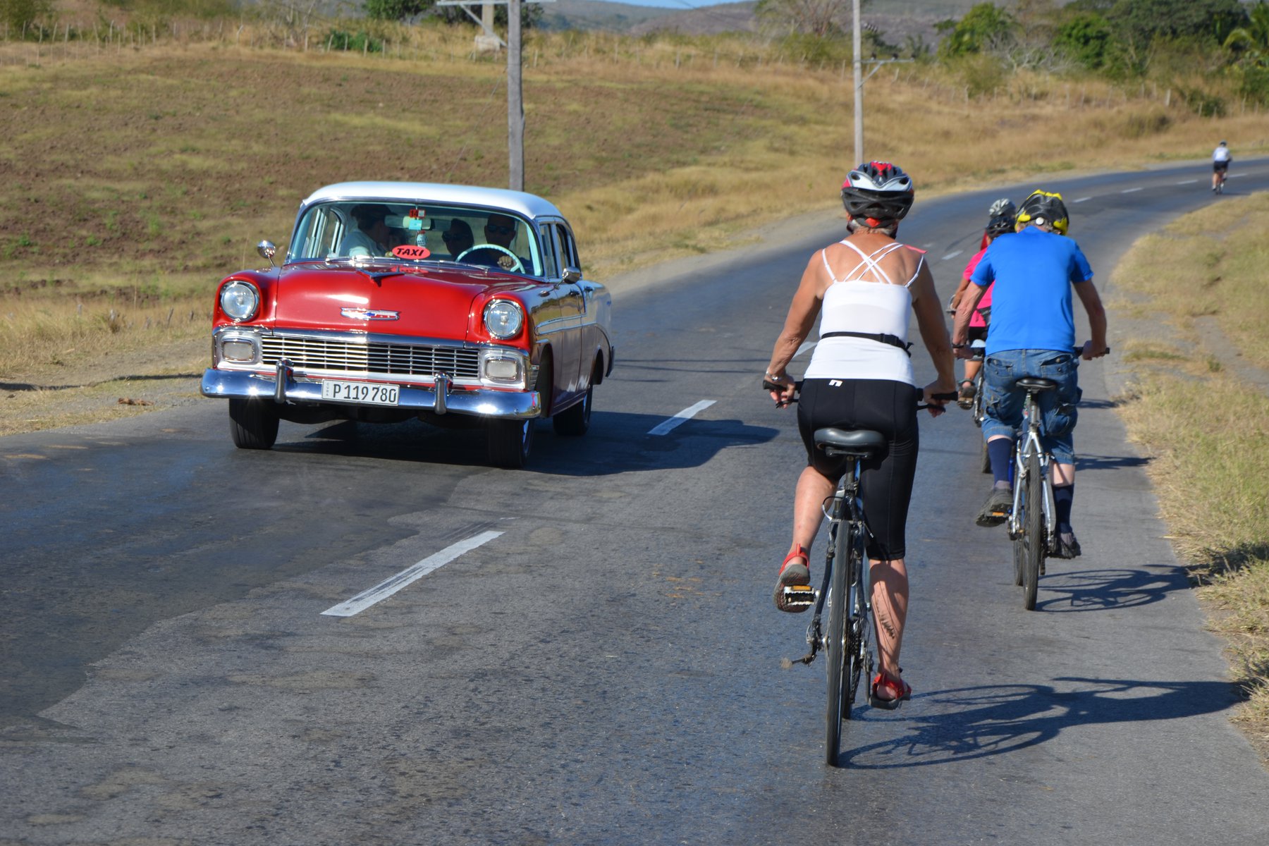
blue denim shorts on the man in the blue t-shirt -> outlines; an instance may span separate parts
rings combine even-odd
[[[986,420],[982,436],[1015,438],[1023,422],[1023,401],[1027,392],[1016,386],[1024,377],[1041,377],[1057,382],[1055,391],[1036,394],[1044,436],[1041,445],[1060,464],[1075,463],[1072,431],[1079,419],[1079,363],[1070,351],[1003,350],[992,353],[982,364],[982,403]]]

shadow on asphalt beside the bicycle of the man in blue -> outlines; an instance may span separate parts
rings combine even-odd
[[[1151,605],[1167,594],[1189,590],[1184,567],[1156,564],[1055,573],[1063,563],[1055,559],[1047,562],[1049,572],[1039,581],[1036,610],[1049,614],[1110,611]]]

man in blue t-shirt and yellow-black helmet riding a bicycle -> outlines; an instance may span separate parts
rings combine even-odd
[[[1075,558],[1080,543],[1071,529],[1075,500],[1075,449],[1072,430],[1080,402],[1075,361],[1075,317],[1071,290],[1079,294],[1089,316],[1091,340],[1084,344],[1085,360],[1105,355],[1107,315],[1093,287],[1093,269],[1079,245],[1066,236],[1068,218],[1061,194],[1034,192],[1018,209],[1016,232],[1001,235],[978,261],[961,298],[952,342],[963,345],[970,317],[989,285],[991,326],[983,361],[982,436],[987,441],[991,493],[978,512],[981,526],[1004,523],[1013,507],[1009,479],[1014,434],[1022,425],[1025,391],[1016,387],[1024,377],[1057,382],[1057,389],[1038,394],[1044,420],[1043,446],[1053,455],[1053,504],[1057,509],[1058,558]],[[967,348],[957,354],[968,358]]]

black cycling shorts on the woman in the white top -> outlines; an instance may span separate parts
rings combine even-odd
[[[807,464],[834,482],[845,472],[846,460],[815,448],[816,429],[872,429],[886,436],[886,449],[860,468],[864,517],[873,535],[868,557],[873,559],[893,561],[905,554],[920,444],[916,397],[912,386],[888,379],[806,379],[798,397],[797,425]]]

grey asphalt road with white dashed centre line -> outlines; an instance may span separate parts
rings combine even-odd
[[[1042,186],[1104,289],[1133,238],[1264,190],[1269,161],[1226,198],[1207,178]],[[1034,186],[919,195],[901,236],[944,299],[989,203]],[[283,424],[239,452],[212,400],[0,439],[0,843],[1263,842],[1269,775],[1113,355],[1081,368],[1085,554],[1049,563],[1037,611],[973,525],[968,415],[923,416],[916,693],[859,708],[824,766],[822,665],[780,666],[807,618],[770,602],[801,444],[758,383],[840,228],[618,280],[591,431],[543,424],[524,472],[421,424]]]

